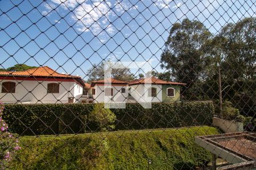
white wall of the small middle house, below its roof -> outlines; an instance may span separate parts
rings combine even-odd
[[[93,95],[94,103],[102,103],[102,102],[110,102],[112,99],[113,102],[126,102],[128,97],[128,90],[127,86],[114,86],[113,88],[113,96],[105,96],[104,93],[104,86],[94,86],[95,88],[95,95]],[[109,87],[107,87],[109,88]],[[121,92],[121,88],[125,88],[125,93]],[[105,98],[106,97],[106,98]]]

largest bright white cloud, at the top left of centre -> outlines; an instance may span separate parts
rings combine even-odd
[[[73,10],[71,18],[77,22],[76,29],[80,32],[92,32],[102,42],[115,32],[113,25],[109,24],[109,20],[115,16],[109,0],[51,0],[51,2],[56,6],[60,5],[64,10]]]

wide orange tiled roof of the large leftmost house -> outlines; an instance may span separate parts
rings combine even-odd
[[[60,74],[48,66],[37,67],[34,69],[28,69],[25,71],[0,71],[0,75],[11,75],[11,76],[44,76],[49,78],[80,78],[80,76]]]

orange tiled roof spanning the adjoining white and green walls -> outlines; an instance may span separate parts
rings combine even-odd
[[[144,83],[152,83],[152,84],[175,84],[175,85],[185,85],[185,83],[178,83],[178,82],[167,82],[164,80],[157,79],[155,77],[150,78],[143,78],[143,79],[137,79],[129,82],[129,85],[135,85],[135,84],[144,84]]]

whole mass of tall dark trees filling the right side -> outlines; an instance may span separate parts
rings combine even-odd
[[[256,111],[256,18],[229,23],[211,35],[203,23],[175,23],[161,56],[162,68],[187,83],[186,100],[218,99],[218,67],[223,100],[232,101],[244,116]]]

